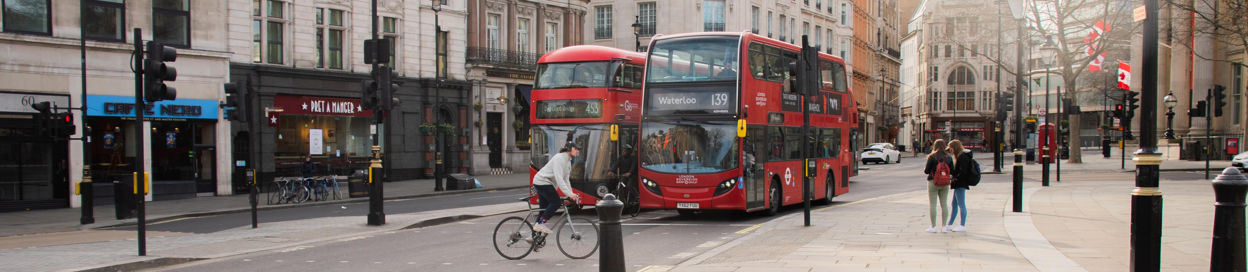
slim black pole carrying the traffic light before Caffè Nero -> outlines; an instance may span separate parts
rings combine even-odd
[[[147,217],[144,215],[144,197],[146,196],[146,175],[144,167],[144,112],[147,104],[144,104],[144,35],[142,29],[135,27],[135,135],[131,136],[135,146],[135,213],[139,216],[139,256],[147,256]],[[150,49],[149,49],[150,50]]]

